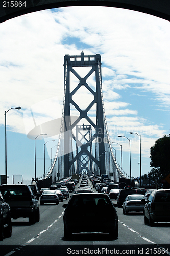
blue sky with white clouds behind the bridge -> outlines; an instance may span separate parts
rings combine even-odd
[[[132,176],[139,176],[139,136],[129,134],[135,132],[141,135],[142,175],[148,174],[151,146],[169,135],[169,29],[167,20],[148,14],[92,6],[43,10],[1,23],[0,174],[5,174],[4,114],[21,106],[7,113],[8,183],[12,175],[34,177],[34,140],[27,135],[35,124],[61,118],[64,56],[82,51],[101,55],[108,130],[111,141],[122,145],[124,172],[130,174],[129,141],[118,136],[130,139]],[[75,84],[71,77],[71,88]],[[81,88],[74,97],[83,109],[92,96]],[[89,115],[95,120],[94,109]],[[47,171],[57,143],[57,135],[36,139],[37,177],[44,173],[44,144]],[[120,164],[120,146],[112,145]]]

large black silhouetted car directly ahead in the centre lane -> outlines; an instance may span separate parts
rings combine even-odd
[[[72,233],[102,232],[117,239],[118,217],[114,206],[107,194],[73,194],[68,204],[63,205],[64,237],[69,238]]]

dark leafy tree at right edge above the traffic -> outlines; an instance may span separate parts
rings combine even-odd
[[[155,184],[160,185],[161,179],[166,178],[170,173],[170,136],[156,140],[150,150],[150,165],[153,167],[149,173]]]

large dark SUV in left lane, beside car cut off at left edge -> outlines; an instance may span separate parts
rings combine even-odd
[[[30,224],[40,220],[39,204],[28,185],[1,185],[0,191],[11,208],[11,217],[29,218]]]

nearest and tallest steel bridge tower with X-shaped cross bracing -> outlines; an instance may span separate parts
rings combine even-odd
[[[95,164],[98,165],[100,169],[100,174],[105,174],[105,145],[104,145],[104,115],[103,115],[103,106],[102,106],[102,76],[101,76],[101,56],[100,54],[96,55],[84,55],[81,52],[81,55],[65,55],[64,57],[64,86],[65,86],[65,106],[64,106],[64,177],[69,176],[73,172],[72,165],[79,159],[84,153],[92,159]],[[85,77],[81,77],[74,69],[74,67],[91,67],[91,70],[86,74]],[[74,74],[79,83],[70,91],[70,72]],[[95,73],[95,91],[87,84],[87,79],[90,75]],[[85,86],[89,92],[93,95],[94,99],[87,106],[85,110],[82,110],[76,102],[73,100],[72,96],[78,91],[81,86]],[[86,99],[82,99],[85,101]],[[96,103],[96,122],[94,123],[91,118],[88,116],[88,111]],[[79,118],[71,122],[70,117],[70,108],[71,105],[76,108],[79,112]],[[86,144],[82,144],[78,138],[72,133],[72,129],[78,124],[80,119],[85,118],[88,123],[94,128],[94,134],[91,137],[91,141],[88,141]],[[72,147],[72,140],[75,140],[77,145],[81,148],[78,154],[73,157],[70,153]],[[87,148],[89,143],[92,143],[93,140],[96,140],[98,144],[97,156],[94,157],[92,152],[88,151]],[[72,169],[71,169],[72,168]],[[79,170],[78,170],[79,171]]]

